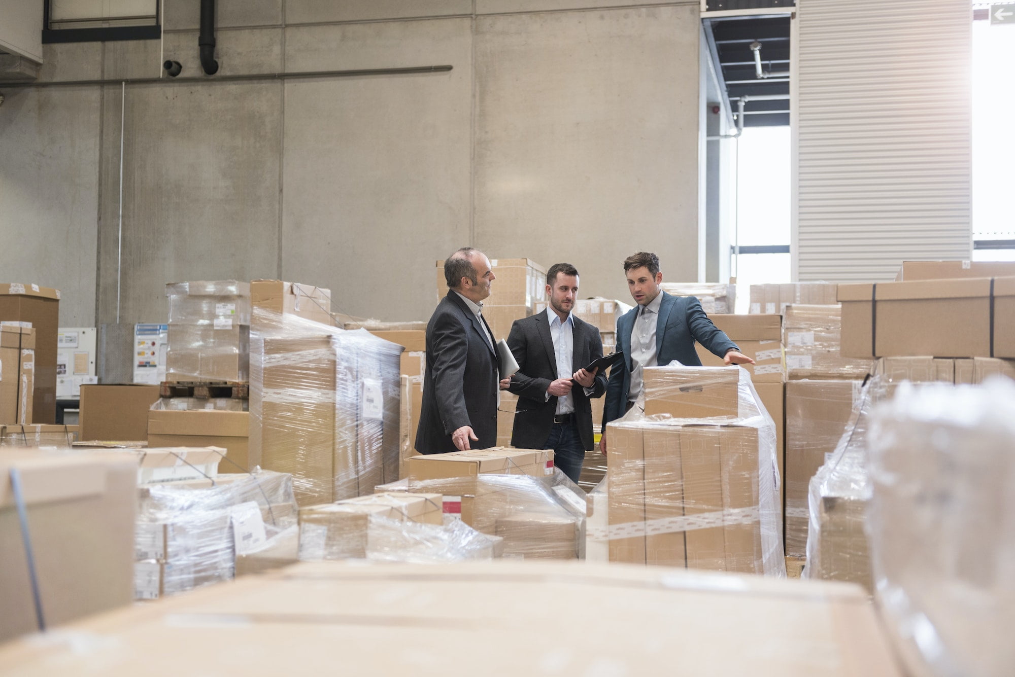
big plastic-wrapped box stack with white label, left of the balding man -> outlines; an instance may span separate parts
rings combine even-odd
[[[300,506],[396,479],[402,347],[262,308],[253,321],[251,457],[291,473]]]

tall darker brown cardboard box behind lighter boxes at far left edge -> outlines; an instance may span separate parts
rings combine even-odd
[[[29,423],[55,424],[60,290],[35,284],[0,284],[0,321],[29,322],[36,329],[35,391]]]

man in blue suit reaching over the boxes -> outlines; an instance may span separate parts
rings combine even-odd
[[[627,289],[637,303],[617,320],[618,349],[624,359],[610,370],[603,405],[603,437],[600,450],[606,453],[606,424],[622,417],[642,394],[641,368],[665,366],[678,360],[688,367],[700,367],[694,342],[723,358],[728,365],[754,364],[720,330],[693,296],[670,296],[660,285],[663,274],[659,256],[639,251],[624,259]]]

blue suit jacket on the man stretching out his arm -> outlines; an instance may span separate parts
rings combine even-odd
[[[740,349],[730,341],[719,327],[712,323],[701,309],[701,303],[693,296],[671,296],[661,292],[663,302],[659,306],[659,321],[656,325],[656,364],[668,365],[674,360],[688,367],[700,367],[701,361],[694,350],[694,342],[718,355],[726,357],[732,349]],[[606,401],[603,404],[603,430],[606,424],[624,415],[631,385],[631,330],[640,306],[624,313],[617,320],[617,344],[624,352],[624,359],[610,370],[610,381],[606,387]]]

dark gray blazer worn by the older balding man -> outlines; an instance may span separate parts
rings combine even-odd
[[[462,426],[471,426],[479,438],[478,442],[469,441],[472,449],[496,446],[497,369],[496,356],[479,320],[456,292],[449,291],[426,325],[426,371],[416,451],[458,451],[451,435]]]

